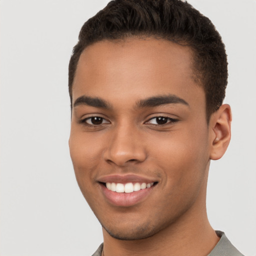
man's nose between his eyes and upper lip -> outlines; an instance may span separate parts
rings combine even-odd
[[[108,147],[104,152],[104,159],[107,162],[123,166],[146,159],[141,135],[135,127],[120,125],[111,132]]]

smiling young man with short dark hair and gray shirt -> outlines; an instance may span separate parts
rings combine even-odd
[[[227,61],[180,0],[114,0],[69,63],[70,155],[104,255],[242,255],[206,214],[210,160],[230,140]]]

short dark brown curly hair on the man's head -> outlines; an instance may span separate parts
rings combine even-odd
[[[72,83],[81,52],[100,40],[147,36],[162,38],[193,49],[195,78],[206,97],[207,120],[225,97],[227,58],[225,46],[212,22],[181,0],[112,0],[82,26],[68,68]]]

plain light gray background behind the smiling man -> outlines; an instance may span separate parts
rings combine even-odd
[[[0,255],[90,255],[101,227],[68,151],[67,66],[83,22],[107,0],[0,0]],[[256,0],[189,0],[226,45],[232,139],[211,163],[207,208],[256,255]]]

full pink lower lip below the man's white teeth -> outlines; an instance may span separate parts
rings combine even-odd
[[[103,184],[100,184],[101,190],[106,199],[115,206],[132,206],[143,201],[152,191],[152,187],[140,189],[131,193],[117,193],[108,190]]]

